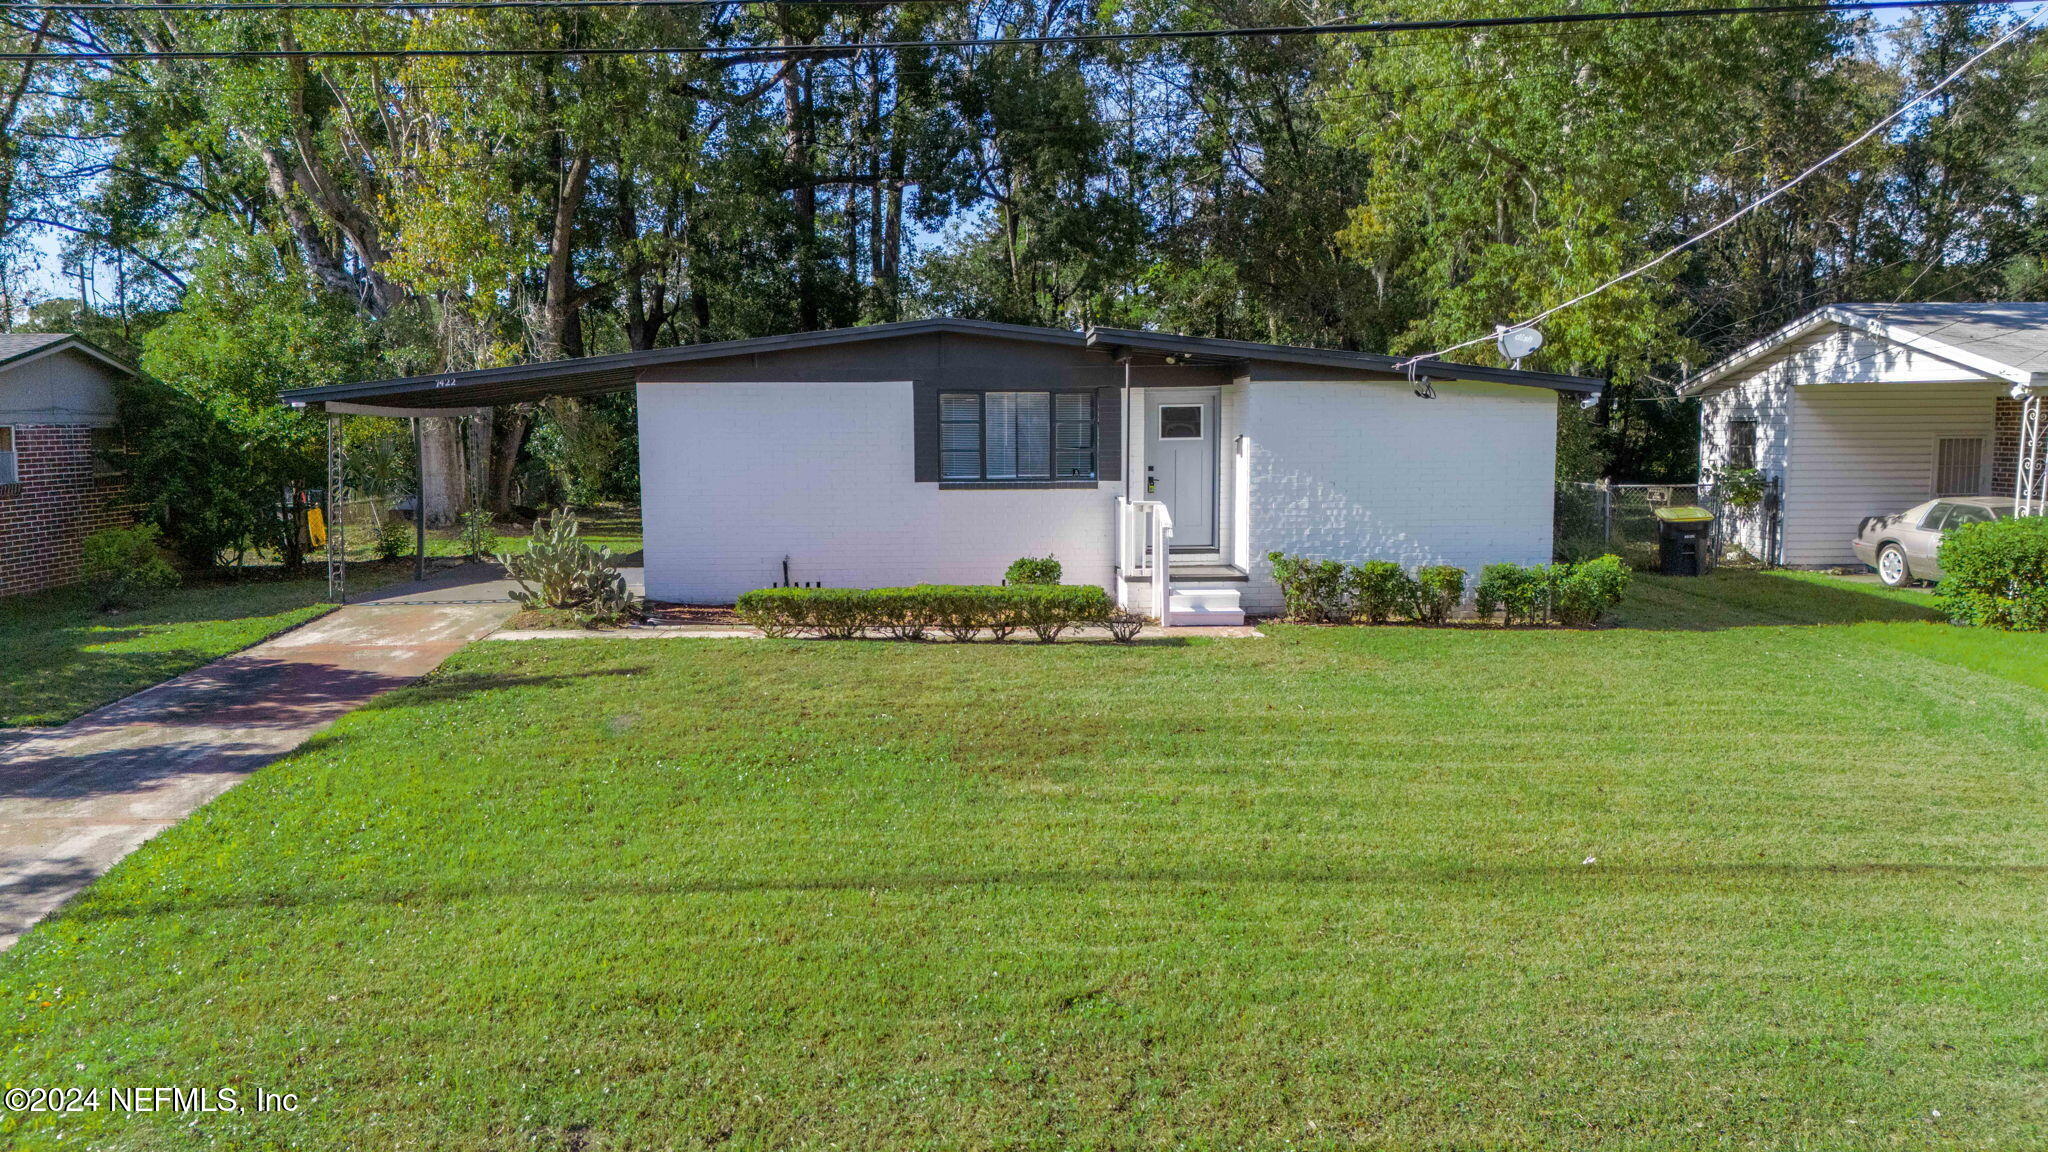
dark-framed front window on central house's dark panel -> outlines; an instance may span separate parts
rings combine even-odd
[[[938,478],[1094,480],[1096,394],[938,394]]]

